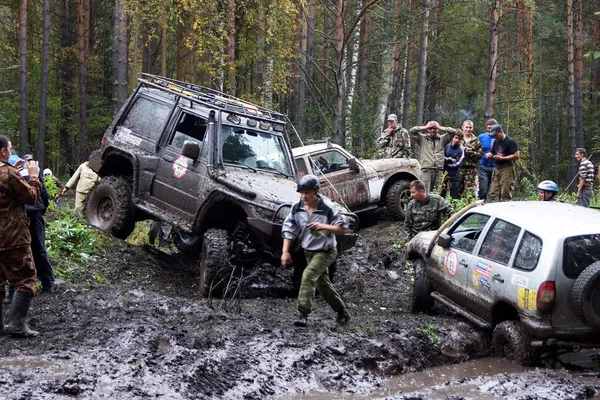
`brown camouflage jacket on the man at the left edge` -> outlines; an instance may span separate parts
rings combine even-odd
[[[25,204],[34,205],[41,191],[37,176],[28,184],[16,168],[0,162],[0,251],[31,243]]]

